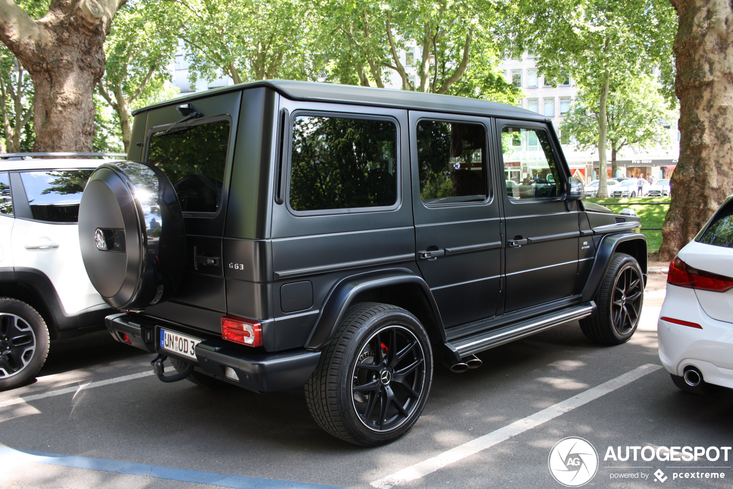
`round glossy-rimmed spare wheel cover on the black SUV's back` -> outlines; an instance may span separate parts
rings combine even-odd
[[[79,245],[92,285],[110,306],[141,310],[168,300],[183,274],[185,230],[178,197],[155,166],[104,163],[79,205]]]

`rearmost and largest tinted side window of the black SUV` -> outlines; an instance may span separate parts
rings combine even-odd
[[[397,202],[397,126],[384,120],[295,117],[290,207],[328,210]]]

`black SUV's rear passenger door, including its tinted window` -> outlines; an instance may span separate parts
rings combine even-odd
[[[501,220],[490,119],[410,111],[418,265],[446,328],[496,314]]]

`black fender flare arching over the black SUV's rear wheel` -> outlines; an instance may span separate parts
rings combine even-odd
[[[306,348],[308,350],[320,350],[331,341],[344,318],[346,310],[359,293],[397,284],[417,284],[421,288],[432,307],[432,313],[438,323],[438,330],[441,332],[443,342],[445,342],[446,334],[443,328],[443,320],[441,320],[438,305],[435,304],[435,298],[430,292],[430,287],[427,286],[421,276],[415,275],[407,268],[392,268],[390,270],[347,276],[336,282],[323,302],[323,307],[306,341]]]

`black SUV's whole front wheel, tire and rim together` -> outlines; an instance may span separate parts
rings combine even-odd
[[[604,345],[627,342],[636,331],[644,302],[644,274],[636,258],[614,253],[594,301],[594,314],[580,320],[583,334]]]

